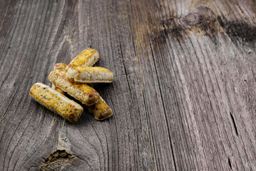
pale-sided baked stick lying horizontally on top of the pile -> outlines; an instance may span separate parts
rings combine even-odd
[[[102,67],[73,66],[66,75],[78,83],[113,82],[113,73]]]

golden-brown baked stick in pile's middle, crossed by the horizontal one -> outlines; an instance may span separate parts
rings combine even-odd
[[[56,65],[64,64],[57,63]],[[66,76],[66,71],[63,71],[60,67],[53,69],[48,79],[58,88],[85,105],[93,105],[100,100],[100,95],[96,90],[87,84],[75,83]]]

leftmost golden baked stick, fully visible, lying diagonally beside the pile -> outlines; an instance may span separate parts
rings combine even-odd
[[[43,83],[35,83],[30,89],[29,95],[41,105],[61,115],[62,118],[71,123],[76,123],[83,113],[81,105]]]

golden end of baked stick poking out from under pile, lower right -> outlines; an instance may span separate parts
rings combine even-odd
[[[111,117],[112,110],[106,104],[106,102],[101,98],[95,105],[86,106],[89,113],[94,115],[96,120],[105,120],[106,118]]]

